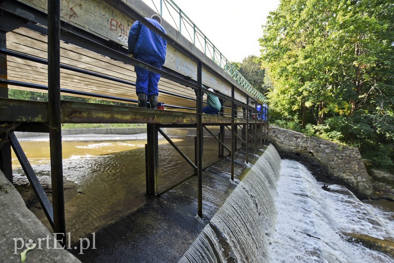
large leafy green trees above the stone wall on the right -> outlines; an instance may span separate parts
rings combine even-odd
[[[282,0],[259,40],[271,112],[394,168],[393,17],[386,0]]]

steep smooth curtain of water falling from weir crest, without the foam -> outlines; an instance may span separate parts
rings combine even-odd
[[[179,262],[265,262],[280,164],[268,146]]]

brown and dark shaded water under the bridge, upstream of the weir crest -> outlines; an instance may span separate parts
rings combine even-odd
[[[193,137],[174,141],[190,160],[195,159]],[[46,157],[49,151],[45,149],[48,146],[42,142],[23,143],[28,144],[26,149],[34,145],[40,148],[30,160],[39,178],[49,178]],[[203,171],[202,220],[197,218],[197,177],[161,197],[147,197],[145,143],[144,140],[64,143],[64,177],[76,182],[81,192],[66,203],[66,231],[77,247],[70,252],[82,262],[177,261],[236,186],[230,180],[228,157]],[[159,192],[162,192],[192,175],[194,170],[166,141],[159,143]],[[230,147],[230,141],[226,145]],[[251,163],[262,154],[260,150],[258,155],[253,152],[251,148]],[[244,156],[243,151],[236,153],[236,179],[249,169]],[[204,166],[217,160],[217,141],[205,138]],[[21,168],[15,171],[23,173]],[[42,222],[49,228],[45,218]],[[78,254],[78,239],[90,234],[93,244],[91,233],[95,233],[96,249]]]

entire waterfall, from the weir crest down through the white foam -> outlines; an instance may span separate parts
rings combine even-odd
[[[179,262],[393,263],[349,233],[394,240],[394,213],[322,186],[270,145]]]

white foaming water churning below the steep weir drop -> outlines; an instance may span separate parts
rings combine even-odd
[[[269,262],[393,263],[383,253],[349,242],[344,234],[393,239],[386,222],[345,187],[331,185],[325,191],[322,186],[302,164],[282,160]]]

